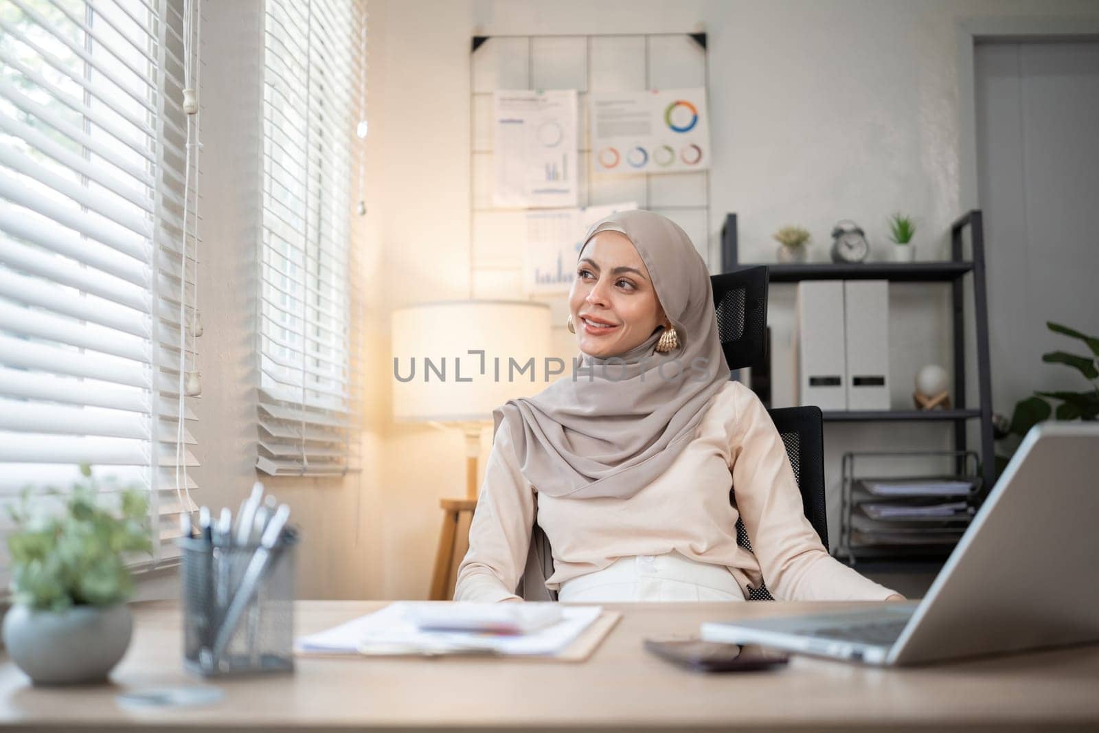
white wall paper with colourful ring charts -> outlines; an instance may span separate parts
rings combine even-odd
[[[591,92],[592,170],[682,173],[710,167],[706,89]]]

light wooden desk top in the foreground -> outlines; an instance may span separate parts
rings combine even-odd
[[[385,606],[303,601],[299,633]],[[120,730],[242,726],[276,730],[684,731],[737,729],[988,730],[1099,726],[1099,646],[986,657],[936,667],[876,669],[808,657],[765,673],[702,675],[642,648],[645,636],[696,633],[699,623],[857,606],[841,603],[608,604],[624,618],[582,664],[485,658],[299,658],[293,675],[214,680],[210,707],[121,710],[118,692],[198,684],[181,667],[175,603],[135,606],[134,641],[114,685],[34,688],[0,663],[0,725]]]

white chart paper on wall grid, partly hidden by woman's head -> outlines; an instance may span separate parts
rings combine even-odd
[[[529,212],[523,289],[529,293],[568,292],[588,227],[615,211],[636,208],[635,201],[623,201],[586,209]]]

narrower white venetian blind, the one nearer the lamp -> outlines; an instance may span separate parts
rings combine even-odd
[[[258,442],[271,474],[357,468],[355,131],[366,15],[354,0],[267,0]]]

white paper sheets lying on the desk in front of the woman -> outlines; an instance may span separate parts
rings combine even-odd
[[[455,618],[468,615],[477,607],[495,604],[458,601],[447,604]],[[520,604],[515,604],[519,607]],[[542,603],[523,603],[536,613]],[[556,606],[554,603],[553,606]],[[444,604],[432,601],[398,601],[380,611],[340,624],[326,631],[295,640],[295,649],[323,654],[453,654],[490,653],[499,655],[545,655],[563,652],[590,626],[602,607],[560,607],[557,623],[529,634],[499,635],[476,631],[423,631],[418,619],[424,609],[437,615]]]

